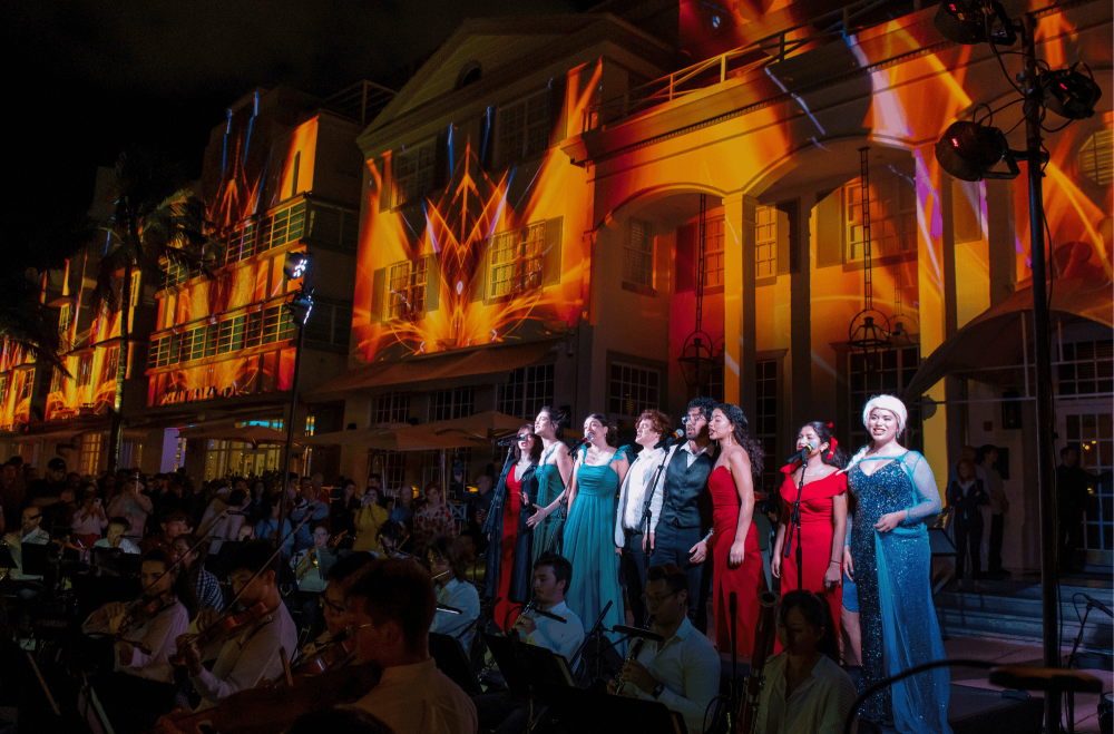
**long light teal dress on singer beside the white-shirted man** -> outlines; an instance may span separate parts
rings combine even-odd
[[[599,613],[612,603],[604,626],[610,629],[624,623],[623,588],[619,586],[619,557],[612,535],[615,531],[616,495],[619,476],[612,467],[624,454],[616,451],[604,466],[582,463],[576,470],[576,498],[565,520],[561,555],[573,564],[573,581],[565,603],[584,623],[585,632]],[[619,635],[608,635],[612,642]]]

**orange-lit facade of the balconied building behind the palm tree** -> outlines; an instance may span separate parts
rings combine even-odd
[[[202,190],[213,277],[190,274],[158,294],[147,363],[148,405],[290,389],[293,327],[282,303],[301,281],[283,274],[304,249],[317,118],[283,124],[262,99],[241,107],[206,151]]]

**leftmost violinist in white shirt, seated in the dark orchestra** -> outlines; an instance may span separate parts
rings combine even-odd
[[[147,731],[173,703],[168,658],[189,626],[187,605],[193,605],[193,591],[179,571],[168,549],[148,551],[139,575],[143,596],[131,604],[110,601],[81,625],[87,635],[113,637],[113,673],[97,686],[97,695],[117,732]]]

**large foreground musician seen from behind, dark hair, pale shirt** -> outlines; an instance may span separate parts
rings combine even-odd
[[[395,734],[476,734],[476,706],[437,669],[429,627],[437,596],[429,571],[410,560],[377,559],[358,575],[348,598],[356,659],[383,668],[355,706]]]

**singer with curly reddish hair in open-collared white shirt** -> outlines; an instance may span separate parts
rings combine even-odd
[[[618,511],[615,513],[615,547],[623,552],[623,578],[634,623],[642,625],[646,609],[642,603],[642,583],[646,578],[649,538],[657,532],[662,516],[666,450],[657,444],[673,428],[670,417],[657,410],[643,411],[635,423],[635,442],[642,447],[631,463],[619,488]],[[646,512],[649,512],[649,522]]]

